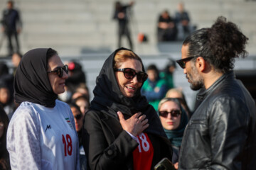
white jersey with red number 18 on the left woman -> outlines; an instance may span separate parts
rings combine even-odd
[[[11,169],[80,169],[78,135],[68,104],[23,102],[7,131]]]

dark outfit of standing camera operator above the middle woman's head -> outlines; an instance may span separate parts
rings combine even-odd
[[[132,45],[132,38],[131,38],[131,33],[129,30],[129,16],[127,14],[127,10],[131,6],[121,6],[121,8],[117,8],[114,11],[114,19],[118,21],[118,47],[122,47],[122,36],[126,36],[127,40],[129,42],[130,49],[133,48]],[[124,13],[124,18],[119,18],[118,13]]]

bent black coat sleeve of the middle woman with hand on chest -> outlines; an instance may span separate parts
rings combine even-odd
[[[90,169],[124,168],[138,143],[125,130],[122,130],[114,139],[107,126],[102,128],[100,118],[97,118],[95,114],[93,112],[86,113],[82,135],[85,137],[83,147]],[[110,142],[111,140],[113,141]]]

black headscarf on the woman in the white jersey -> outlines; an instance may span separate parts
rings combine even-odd
[[[23,55],[14,78],[14,98],[17,103],[30,101],[48,108],[55,106],[58,95],[53,92],[48,79],[48,50],[37,48]]]

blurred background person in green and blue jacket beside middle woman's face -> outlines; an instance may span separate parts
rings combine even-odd
[[[155,64],[150,64],[146,69],[146,73],[149,75],[149,78],[142,86],[142,95],[146,96],[146,100],[149,101],[149,104],[157,111],[159,101],[164,98],[168,90],[167,84],[165,79],[159,77],[159,69]]]

